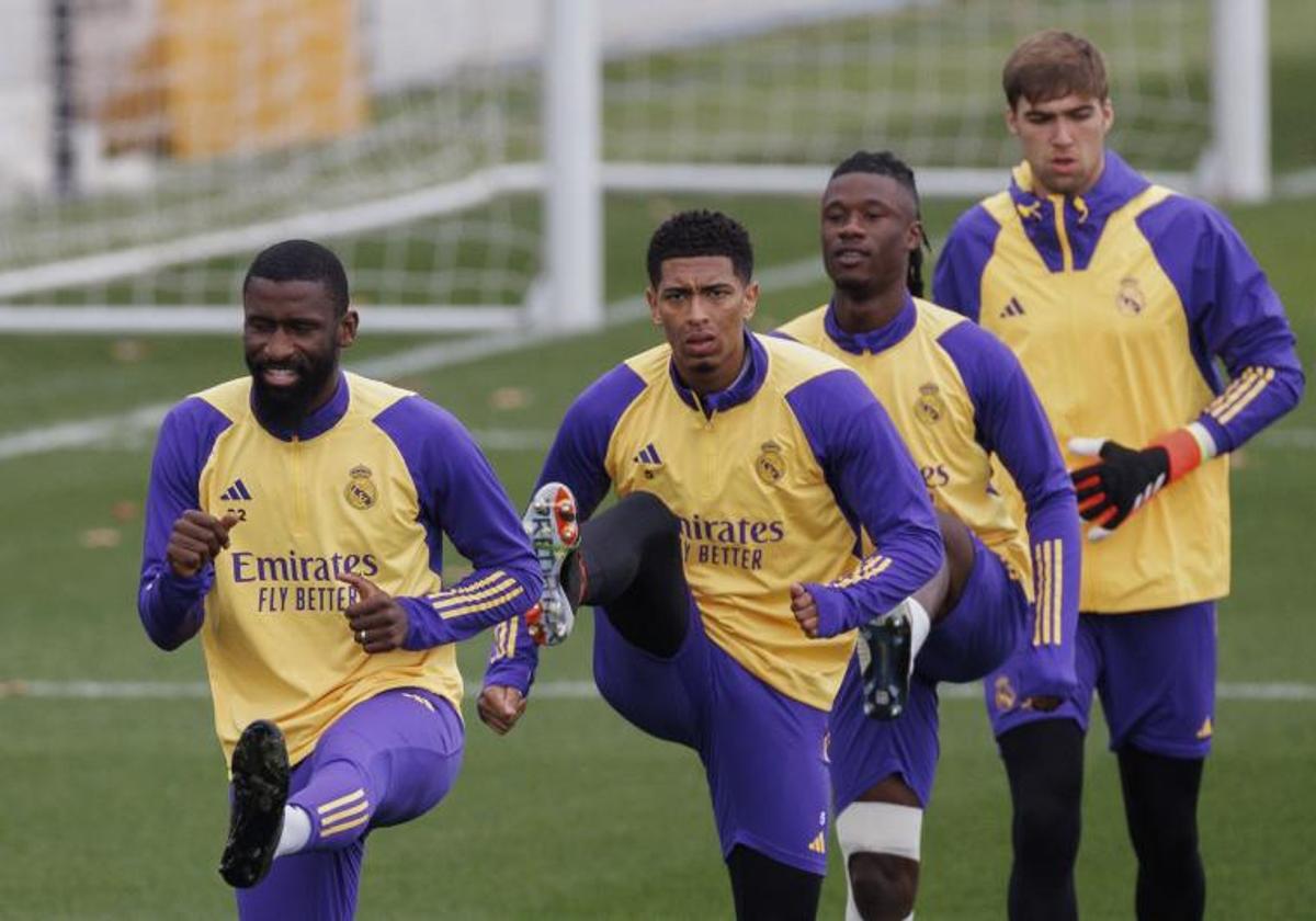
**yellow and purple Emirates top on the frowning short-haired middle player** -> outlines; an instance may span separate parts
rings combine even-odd
[[[853,629],[932,578],[941,534],[908,451],[853,371],[751,333],[745,351],[737,380],[704,397],[666,345],[617,366],[567,411],[540,482],[571,487],[582,518],[609,487],[661,499],[680,520],[708,638],[769,687],[828,710]],[[826,638],[795,621],[796,582]],[[525,691],[534,663],[521,637],[495,643],[484,683]]]

